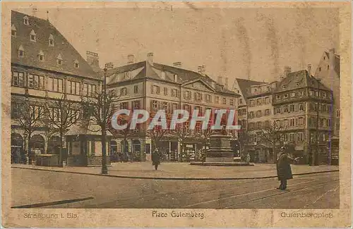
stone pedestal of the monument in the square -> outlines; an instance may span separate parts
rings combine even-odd
[[[231,136],[211,135],[210,149],[206,151],[205,162],[233,162],[233,150],[230,145]]]

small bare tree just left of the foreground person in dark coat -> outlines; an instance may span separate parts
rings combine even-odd
[[[269,122],[269,125],[265,126],[260,133],[260,136],[266,142],[270,143],[273,147],[273,157],[274,163],[277,161],[277,151],[275,145],[280,143],[281,138],[285,135],[285,130],[287,130],[287,123],[281,125],[279,120]]]

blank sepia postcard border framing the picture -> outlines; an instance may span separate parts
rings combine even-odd
[[[165,4],[166,2],[164,2]],[[175,8],[191,7],[169,2]],[[162,8],[161,2],[2,2],[2,84],[1,84],[1,190],[4,227],[351,227],[352,226],[352,7],[351,2],[192,2],[192,7],[237,8],[340,8],[341,128],[340,136],[340,209],[198,209],[205,218],[152,218],[154,209],[11,209],[10,112],[11,101],[11,8]],[[190,210],[190,209],[189,209]],[[163,211],[163,209],[159,209]],[[165,209],[165,211],[170,211]],[[333,213],[333,218],[282,218],[281,213]],[[24,218],[24,213],[77,213],[78,218]]]

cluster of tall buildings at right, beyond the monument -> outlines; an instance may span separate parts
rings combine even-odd
[[[329,61],[334,60],[334,61]],[[304,162],[314,154],[319,163],[338,157],[340,135],[340,56],[335,49],[324,51],[315,76],[311,65],[292,72],[285,67],[279,80],[256,82],[236,79],[233,90],[239,97],[239,134],[253,160],[273,161],[274,148],[287,146]],[[275,123],[275,125],[271,125]],[[278,140],[269,142],[269,133]],[[273,144],[275,143],[275,147]]]

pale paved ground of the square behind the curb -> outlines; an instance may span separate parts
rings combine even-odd
[[[64,173],[83,173],[101,175],[100,167],[45,167],[13,164],[12,168],[27,168]],[[292,165],[293,175],[312,173],[330,173],[338,171],[339,166]],[[108,166],[108,175],[119,178],[160,179],[160,180],[242,180],[275,178],[275,164],[256,164],[255,166],[191,166],[189,163],[161,163],[158,171],[151,162],[112,163]]]

